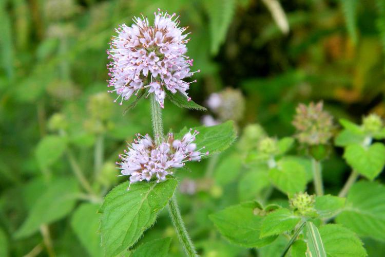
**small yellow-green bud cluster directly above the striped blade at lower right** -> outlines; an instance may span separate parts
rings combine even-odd
[[[290,199],[290,207],[299,215],[314,217],[317,215],[316,210],[314,209],[314,204],[316,201],[315,195],[309,195],[307,192],[300,192],[293,196]]]

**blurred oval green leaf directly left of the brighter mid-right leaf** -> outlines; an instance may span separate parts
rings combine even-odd
[[[270,185],[268,171],[252,170],[245,173],[238,183],[238,196],[241,201],[255,199],[262,190]]]

